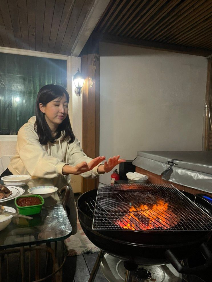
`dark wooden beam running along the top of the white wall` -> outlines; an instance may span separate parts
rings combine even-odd
[[[210,50],[203,50],[198,48],[191,48],[186,46],[174,45],[174,44],[165,44],[161,42],[152,42],[147,40],[138,40],[133,38],[119,37],[110,34],[99,34],[93,33],[93,36],[101,42],[110,42],[120,45],[128,45],[134,47],[148,48],[154,50],[162,50],[176,53],[184,53],[190,55],[197,55],[207,57],[211,54]]]

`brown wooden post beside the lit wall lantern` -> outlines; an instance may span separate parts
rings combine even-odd
[[[89,78],[89,66],[95,73]],[[91,69],[91,67],[90,67]],[[81,53],[81,70],[85,77],[82,90],[82,149],[90,158],[99,156],[99,52],[98,42],[92,37]],[[82,180],[82,193],[98,187],[98,179]]]

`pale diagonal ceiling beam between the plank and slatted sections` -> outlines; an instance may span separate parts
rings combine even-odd
[[[109,2],[110,0],[94,0],[72,46],[72,56],[79,56]]]

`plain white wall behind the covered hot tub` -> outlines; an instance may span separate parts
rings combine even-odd
[[[201,151],[206,78],[205,57],[101,43],[100,155]]]

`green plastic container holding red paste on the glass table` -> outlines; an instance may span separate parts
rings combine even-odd
[[[20,207],[16,203],[16,201],[17,201],[17,199],[23,198],[23,197],[38,197],[41,200],[41,204],[33,205],[33,206]],[[20,215],[35,215],[35,214],[38,214],[42,211],[43,204],[44,204],[44,199],[40,195],[23,195],[23,196],[15,198],[15,205],[16,205]]]

